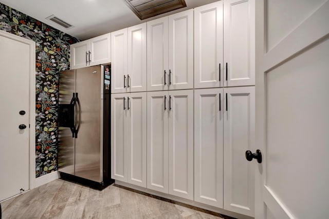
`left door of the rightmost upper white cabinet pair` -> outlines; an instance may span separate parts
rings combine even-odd
[[[194,88],[223,86],[223,1],[194,9]]]

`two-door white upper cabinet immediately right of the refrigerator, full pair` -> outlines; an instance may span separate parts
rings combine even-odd
[[[112,93],[146,91],[146,23],[112,32]]]

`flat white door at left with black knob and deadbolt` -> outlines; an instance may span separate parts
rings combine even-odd
[[[0,201],[29,189],[29,75],[30,45],[1,35]]]

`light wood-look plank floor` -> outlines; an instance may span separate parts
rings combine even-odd
[[[5,218],[223,218],[117,186],[52,181],[1,203]]]

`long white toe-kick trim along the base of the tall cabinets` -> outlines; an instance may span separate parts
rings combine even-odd
[[[157,195],[157,196],[167,198],[169,200],[173,200],[173,201],[176,201],[176,202],[184,203],[184,204],[195,206],[195,207],[198,207],[198,208],[203,208],[203,209],[213,211],[213,212],[216,212],[216,213],[220,213],[220,214],[224,214],[224,215],[227,215],[227,216],[239,218],[239,219],[251,219],[251,218],[253,218],[253,217],[249,217],[247,215],[235,213],[235,212],[232,212],[232,211],[227,211],[227,210],[224,210],[222,208],[216,208],[216,207],[206,205],[206,204],[203,204],[203,203],[195,202],[195,201],[192,201],[192,200],[187,200],[186,198],[181,198],[181,197],[177,197],[175,195],[170,195],[170,194],[154,191],[152,189],[143,188],[143,187],[140,187],[140,186],[135,186],[135,185],[125,183],[125,182],[122,182],[122,181],[118,181],[118,180],[115,181],[115,184],[117,184],[119,186],[124,186],[124,187],[127,187],[127,188],[131,188],[131,189],[135,189],[135,190],[138,190],[138,191],[141,191],[141,192],[145,192],[145,193],[148,193],[148,194]]]

